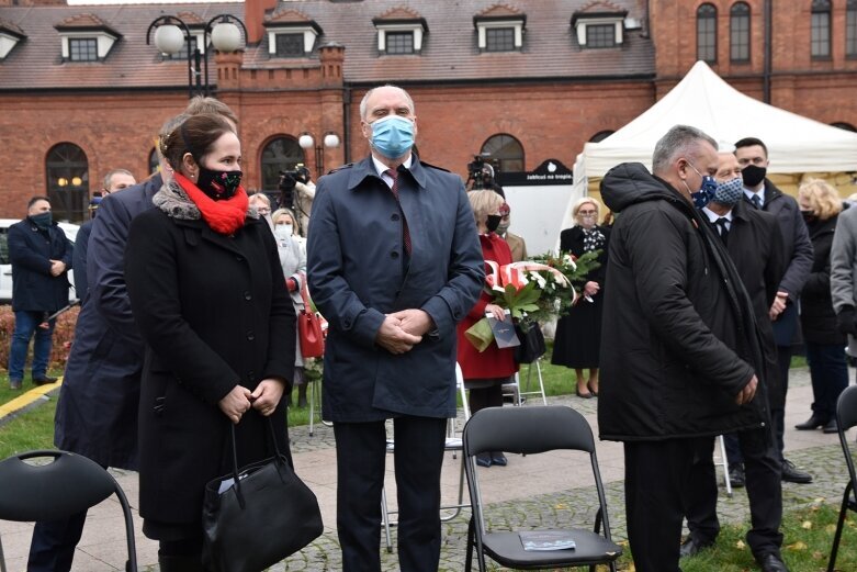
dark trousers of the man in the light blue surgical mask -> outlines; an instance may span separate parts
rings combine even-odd
[[[440,561],[440,469],[447,419],[393,420],[398,500],[398,570],[436,572]],[[337,529],[345,572],[381,570],[384,422],[334,424]]]

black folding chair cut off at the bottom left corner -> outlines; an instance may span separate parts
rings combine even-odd
[[[53,459],[31,464],[29,459]],[[137,572],[134,523],[125,493],[97,462],[66,451],[30,451],[0,461],[0,519],[21,523],[58,520],[108,498],[119,497],[128,545],[126,572]],[[0,564],[5,570],[0,548]]]

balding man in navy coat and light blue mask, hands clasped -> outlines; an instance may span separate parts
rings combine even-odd
[[[337,444],[346,572],[380,571],[385,419],[394,419],[399,570],[436,571],[440,470],[455,414],[455,324],[484,283],[461,178],[411,154],[414,102],[383,86],[360,104],[371,156],[318,180],[309,290],[329,322],[324,413]]]

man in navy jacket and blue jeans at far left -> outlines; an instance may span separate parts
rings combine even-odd
[[[54,222],[46,197],[33,197],[26,218],[9,227],[12,262],[12,311],[15,329],[9,350],[9,386],[20,390],[30,340],[33,343],[33,383],[53,383],[47,374],[55,321],[45,318],[68,304],[71,244]]]

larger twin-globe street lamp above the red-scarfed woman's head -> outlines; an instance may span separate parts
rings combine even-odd
[[[232,14],[217,14],[208,20],[202,32],[203,52],[200,52],[198,43],[193,43],[194,35],[184,21],[174,15],[156,18],[146,31],[146,45],[149,45],[151,31],[155,30],[155,45],[161,54],[178,54],[182,46],[188,46],[188,97],[196,94],[211,96],[208,86],[208,37],[212,45],[219,52],[235,52],[241,46],[241,31],[233,22],[244,30],[247,38],[247,27],[239,18]],[[193,46],[193,49],[191,49]],[[204,66],[204,69],[202,67]]]

